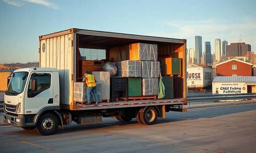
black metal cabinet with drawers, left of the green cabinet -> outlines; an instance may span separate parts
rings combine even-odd
[[[127,101],[127,78],[124,77],[111,77],[111,95],[112,95],[112,101],[114,101],[115,98],[118,97],[124,97],[125,101]]]

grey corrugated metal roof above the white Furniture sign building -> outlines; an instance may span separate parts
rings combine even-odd
[[[255,76],[216,76],[212,82],[245,82],[245,83],[256,83]]]

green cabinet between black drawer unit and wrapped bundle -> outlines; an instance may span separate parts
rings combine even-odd
[[[128,96],[141,96],[141,78],[128,78]]]

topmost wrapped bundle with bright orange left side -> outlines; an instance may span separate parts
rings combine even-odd
[[[130,44],[130,60],[157,61],[157,45],[136,43]]]

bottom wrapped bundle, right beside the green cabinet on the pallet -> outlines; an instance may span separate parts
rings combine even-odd
[[[142,79],[142,95],[158,95],[158,78]]]

